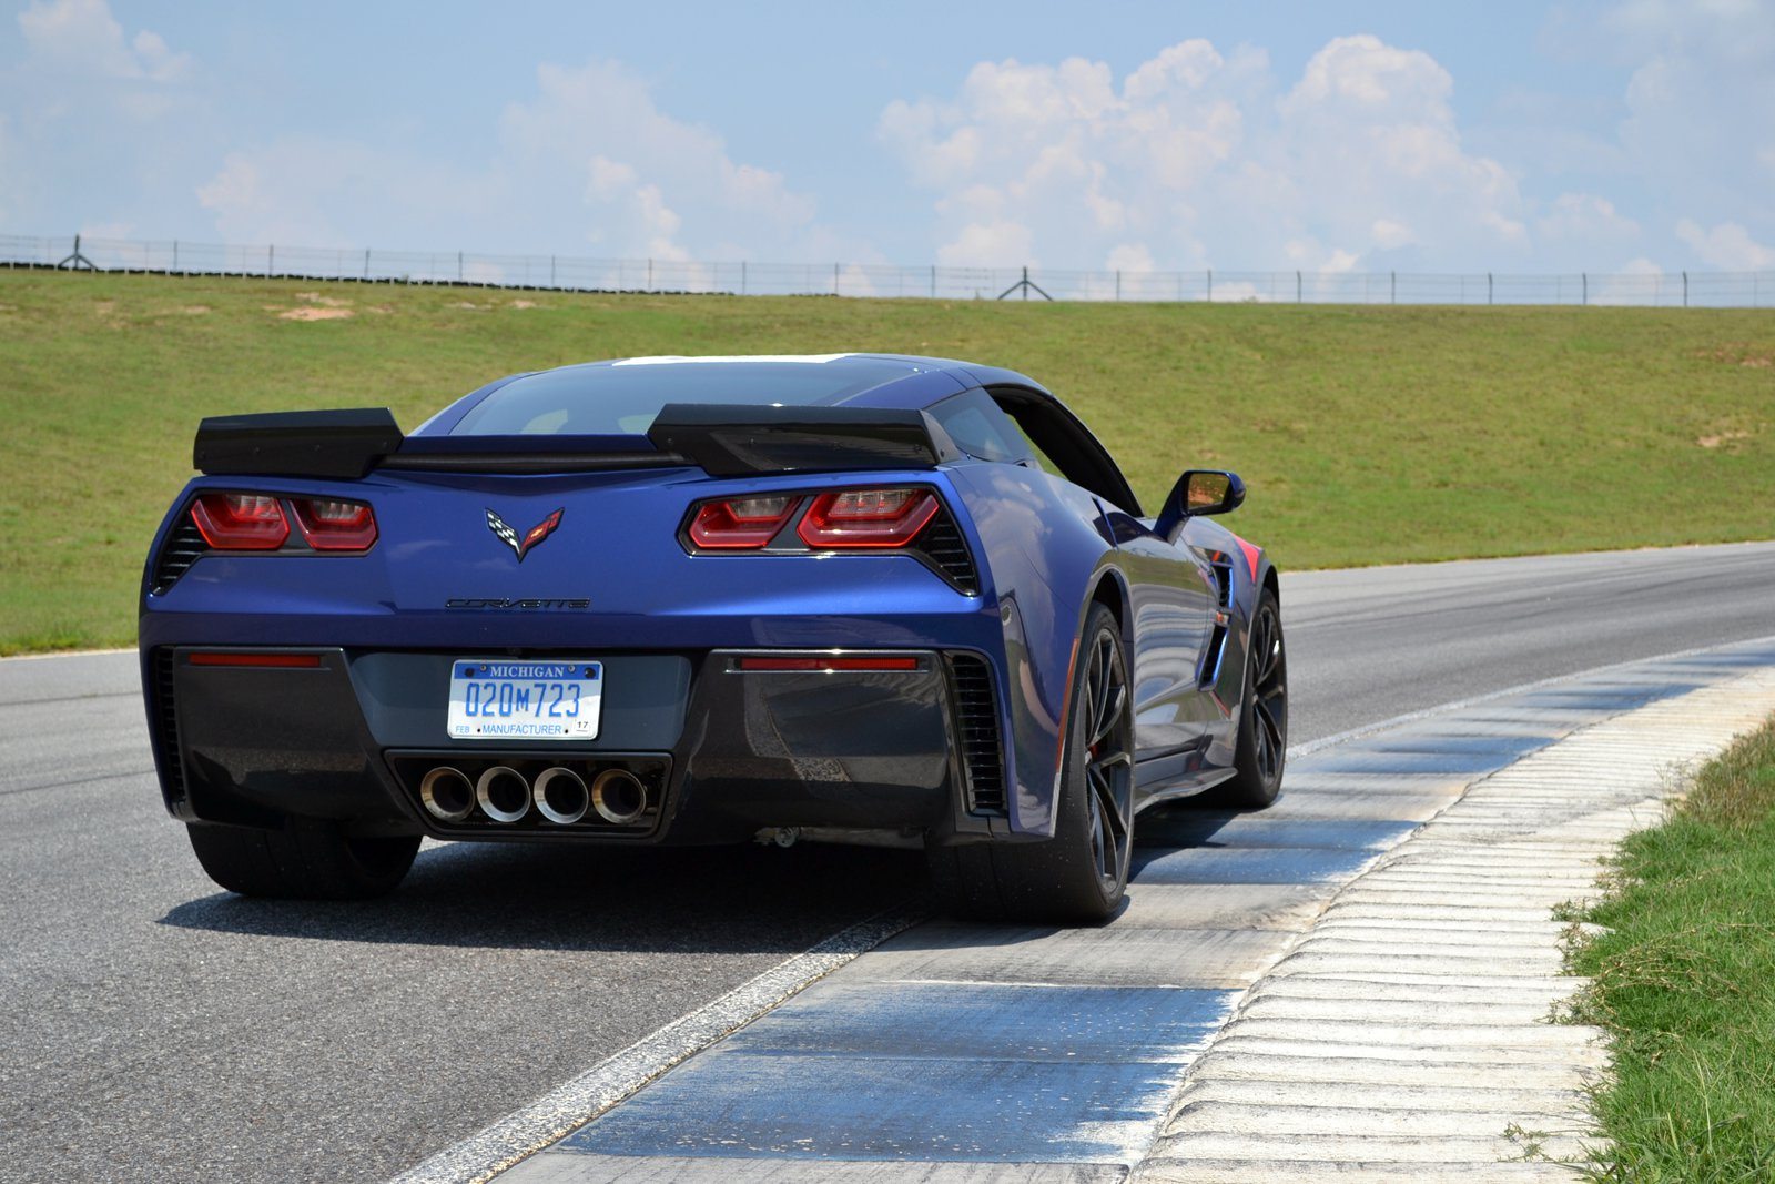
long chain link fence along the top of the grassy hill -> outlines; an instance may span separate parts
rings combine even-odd
[[[1266,304],[1608,304],[1764,307],[1775,272],[1558,275],[1422,272],[1069,272],[875,263],[690,263],[485,256],[462,250],[240,247],[181,240],[0,236],[0,268],[91,268],[390,284],[737,296],[921,296],[928,300],[1129,300]]]

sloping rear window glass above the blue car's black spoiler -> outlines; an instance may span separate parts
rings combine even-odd
[[[829,407],[918,367],[886,359],[625,362],[513,378],[451,435],[641,435],[667,403]]]

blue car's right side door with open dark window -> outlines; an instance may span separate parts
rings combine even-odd
[[[1140,517],[1127,479],[1109,453],[1053,396],[1017,387],[990,391],[1015,422],[1030,451],[1054,476],[1088,492],[1120,554],[1132,621],[1132,694],[1136,760],[1200,747],[1221,719],[1203,671],[1216,577],[1205,556],[1179,534],[1163,538]]]

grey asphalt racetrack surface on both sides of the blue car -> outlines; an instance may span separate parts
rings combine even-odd
[[[1775,543],[1283,577],[1294,744],[1775,634]],[[220,893],[133,655],[0,662],[0,1175],[385,1179],[916,893],[854,849],[431,847],[369,905]]]

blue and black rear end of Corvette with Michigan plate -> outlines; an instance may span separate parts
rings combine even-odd
[[[735,469],[721,430],[662,419],[667,447],[572,458],[403,451],[359,412],[206,422],[142,602],[167,808],[360,838],[1003,831],[999,620],[944,478],[714,476],[673,446]]]

